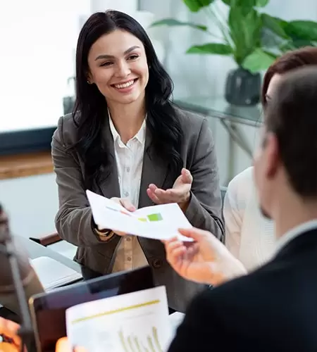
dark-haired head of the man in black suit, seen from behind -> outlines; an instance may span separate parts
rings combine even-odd
[[[285,202],[317,204],[317,66],[281,77],[265,113],[254,176],[263,213]]]

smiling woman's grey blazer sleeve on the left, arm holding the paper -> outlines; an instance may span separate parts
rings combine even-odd
[[[59,208],[55,226],[62,239],[75,246],[92,246],[104,243],[93,230],[92,210],[86,196],[79,162],[63,140],[63,118],[51,143]]]

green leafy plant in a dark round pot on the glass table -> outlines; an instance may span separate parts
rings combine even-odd
[[[228,6],[225,18],[216,0],[182,0],[192,12],[206,15],[220,30],[220,40],[206,25],[165,18],[152,26],[189,26],[216,38],[214,42],[195,44],[187,54],[231,56],[237,68],[228,73],[225,99],[229,103],[250,106],[259,102],[261,71],[266,70],[284,51],[314,45],[317,24],[312,21],[287,22],[263,13],[269,0],[221,0]],[[220,1],[220,0],[219,0]]]

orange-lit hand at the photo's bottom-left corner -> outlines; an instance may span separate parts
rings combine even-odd
[[[0,335],[2,342],[0,343],[0,352],[18,352],[21,348],[20,337],[18,337],[18,329],[20,325],[0,317]]]

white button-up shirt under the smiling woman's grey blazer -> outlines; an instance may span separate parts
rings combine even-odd
[[[110,114],[109,125],[113,136],[120,197],[129,199],[135,208],[137,208],[139,204],[139,186],[142,177],[146,120],[144,119],[139,132],[127,144],[122,142],[116,127],[113,125]],[[147,264],[147,258],[144,256],[137,237],[128,234],[123,236],[116,251],[112,272],[131,270]]]

